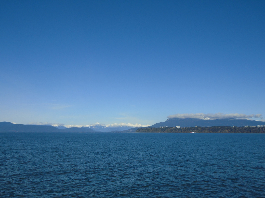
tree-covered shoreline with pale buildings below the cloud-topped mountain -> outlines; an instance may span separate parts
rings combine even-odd
[[[139,128],[136,133],[265,133],[265,127],[162,127]]]

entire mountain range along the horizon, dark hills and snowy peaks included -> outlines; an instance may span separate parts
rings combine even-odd
[[[211,126],[257,126],[265,125],[265,122],[247,119],[235,119],[235,118],[225,118],[225,119],[215,119],[215,120],[204,120],[198,118],[169,118],[165,122],[156,123],[152,126],[147,127],[211,127]],[[143,125],[132,124],[113,124],[113,125],[100,125],[96,123],[95,125],[79,126],[79,127],[69,127],[61,125],[30,125],[30,124],[13,124],[10,122],[0,122],[0,132],[60,132],[60,133],[71,133],[71,132],[135,132],[138,128],[143,127]]]

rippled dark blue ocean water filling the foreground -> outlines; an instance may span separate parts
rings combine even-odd
[[[265,197],[265,134],[0,133],[0,197]]]

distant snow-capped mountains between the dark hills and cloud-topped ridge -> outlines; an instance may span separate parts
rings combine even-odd
[[[125,124],[125,123],[120,123],[120,124],[107,124],[103,125],[100,123],[95,123],[91,125],[61,125],[61,124],[52,124],[52,126],[59,128],[59,129],[64,129],[64,128],[72,128],[72,127],[78,127],[78,128],[90,128],[93,129],[94,131],[100,131],[100,132],[111,132],[111,131],[125,131],[131,128],[135,127],[149,127],[150,125],[142,125],[142,124]]]

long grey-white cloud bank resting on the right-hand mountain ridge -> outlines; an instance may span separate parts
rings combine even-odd
[[[168,118],[199,118],[199,119],[221,119],[221,118],[238,118],[238,119],[249,119],[249,118],[260,118],[262,119],[261,114],[223,114],[223,113],[216,113],[216,114],[204,114],[204,113],[197,113],[197,114],[175,114],[169,115]]]

